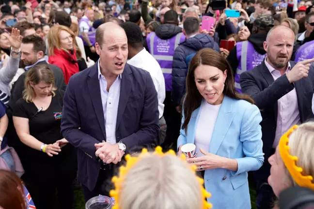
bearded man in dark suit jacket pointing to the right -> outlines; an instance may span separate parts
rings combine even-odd
[[[266,59],[240,77],[242,92],[254,99],[263,118],[265,160],[263,166],[254,172],[258,209],[273,208],[275,195],[267,182],[271,172],[268,158],[275,152],[281,135],[292,125],[314,118],[311,111],[314,69],[310,67],[314,59],[298,63],[289,61],[294,40],[294,32],[287,27],[271,29],[264,42]]]

